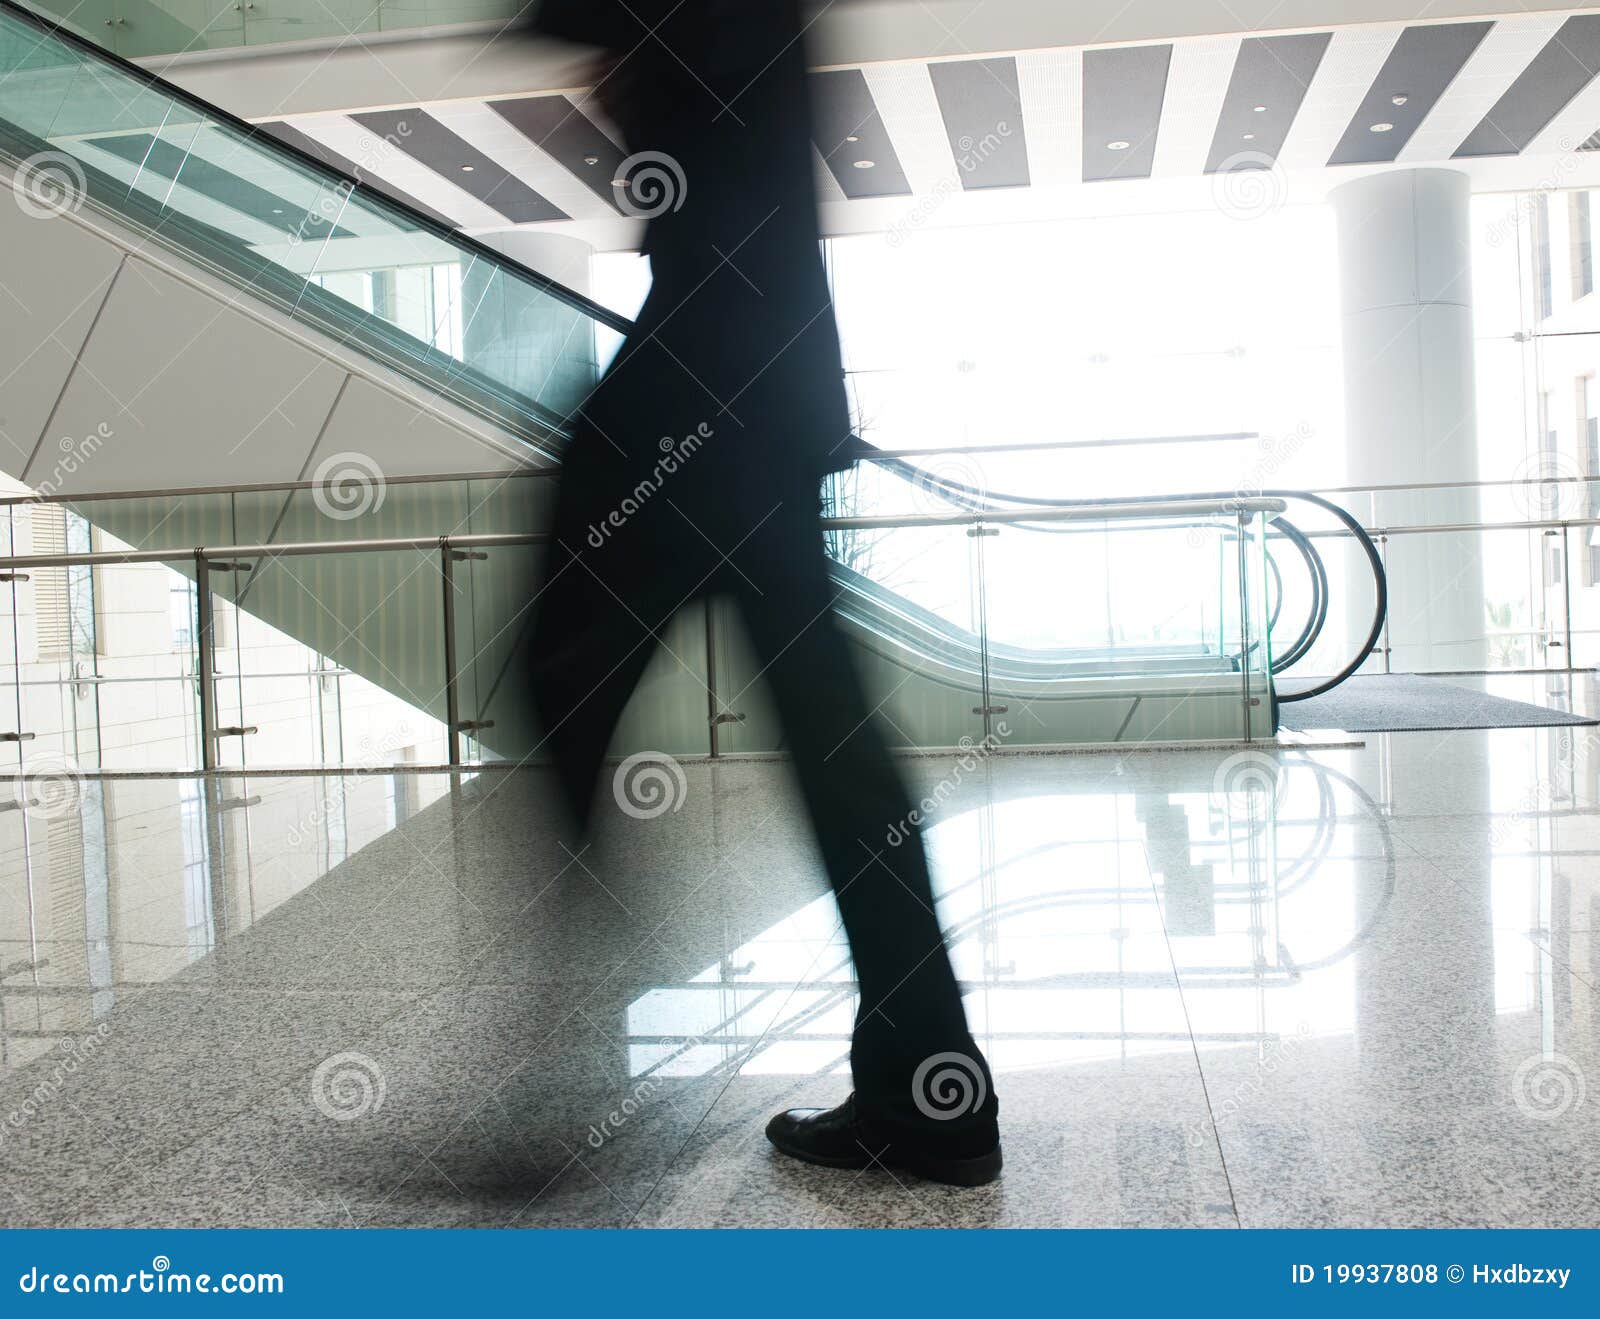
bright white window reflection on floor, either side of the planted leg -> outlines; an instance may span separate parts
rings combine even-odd
[[[990,765],[928,831],[941,919],[997,1071],[1266,1044],[1278,1039],[1269,1004],[1293,1004],[1302,1032],[1355,1029],[1354,954],[1395,884],[1384,813],[1306,756],[1197,764],[1178,791],[1174,765],[1155,783],[1126,764],[1104,783],[1018,796],[1010,767]],[[634,1002],[630,1068],[848,1071],[854,989],[822,895]],[[1192,1031],[1186,1002],[1213,1024]]]

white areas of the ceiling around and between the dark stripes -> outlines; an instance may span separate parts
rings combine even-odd
[[[835,6],[837,11],[830,10],[818,24],[818,58],[837,58],[850,51],[915,50],[918,43],[931,48],[914,59],[862,61],[856,66],[862,69],[872,102],[910,182],[910,195],[846,200],[818,157],[824,231],[885,232],[896,227],[1170,211],[1216,205],[1219,198],[1224,205],[1234,205],[1237,197],[1229,192],[1234,184],[1222,176],[1208,176],[1205,168],[1240,46],[1246,38],[1261,35],[1248,21],[1270,13],[1275,16],[1274,22],[1293,18],[1315,27],[1318,16],[1328,22],[1333,14],[1394,14],[1402,8],[1405,6],[1381,0],[1338,5],[1325,0],[1277,5],[1173,0],[1122,6],[1123,11],[1138,13],[1123,13],[1107,5],[1042,5],[1037,0],[987,0],[984,5],[971,0],[930,0],[922,5],[854,0]],[[1427,10],[1429,21],[1470,13],[1467,5],[1432,3],[1422,8]],[[1579,150],[1600,130],[1600,78],[1589,82],[1520,154],[1451,158],[1557,29],[1573,14],[1594,13],[1594,8],[1530,6],[1498,18],[1394,163],[1448,163],[1466,170],[1474,189],[1480,192],[1600,187],[1600,152]],[[1320,29],[1333,32],[1326,54],[1306,90],[1277,163],[1253,181],[1254,187],[1266,189],[1269,205],[1317,203],[1328,189],[1346,179],[1373,168],[1394,168],[1387,163],[1326,163],[1402,32],[1416,26],[1408,24],[1403,13],[1394,16],[1400,21]],[[957,21],[954,27],[952,19]],[[963,189],[963,173],[957,166],[934,96],[930,56],[965,59],[997,48],[998,43],[1051,35],[1094,38],[1096,34],[1104,34],[1101,40],[1128,40],[1133,34],[1142,34],[1139,38],[1147,40],[1162,32],[1208,32],[1224,27],[1235,30],[1179,35],[1171,42],[1171,66],[1149,179],[1082,182],[1085,50],[1082,45],[1058,43],[1022,48],[1016,59],[1032,186]],[[946,35],[934,40],[938,29]],[[478,51],[478,59],[474,66],[459,69],[459,59],[469,45]],[[413,67],[424,46],[430,46],[434,54],[432,72],[426,77]],[[616,214],[568,165],[522,136],[488,107],[485,96],[451,94],[467,86],[493,86],[499,91],[515,86],[515,94],[565,90],[574,102],[582,104],[581,90],[563,88],[560,82],[562,77],[573,77],[571,62],[563,64],[555,56],[530,56],[526,45],[520,50],[523,58],[517,72],[499,67],[504,53],[498,46],[485,46],[482,37],[453,37],[432,43],[206,59],[170,67],[166,74],[235,112],[258,120],[285,122],[341,155],[362,160],[363,166],[386,182],[470,232],[506,231],[506,218],[467,195],[448,173],[435,171],[402,152],[386,152],[382,158],[371,160],[370,142],[363,155],[365,130],[349,118],[349,112],[371,104],[421,106],[570,216],[566,221],[526,227],[581,237],[600,250],[637,247],[637,223]],[[330,80],[330,69],[338,69],[346,77]],[[357,69],[365,72],[355,77]],[[293,83],[285,82],[290,74],[296,75]],[[277,82],[280,88],[272,106],[264,101],[267,82]],[[293,86],[293,91],[283,94],[286,86]],[[416,91],[437,94],[422,96],[414,94]],[[379,99],[363,99],[370,96]],[[285,114],[280,106],[293,109]],[[315,109],[298,112],[302,106]],[[1251,200],[1250,205],[1258,202]]]

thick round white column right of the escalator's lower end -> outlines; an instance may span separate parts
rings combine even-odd
[[[1469,178],[1390,170],[1334,189],[1330,202],[1339,232],[1347,483],[1477,480]],[[1352,503],[1365,519],[1366,501]],[[1376,515],[1386,525],[1472,522],[1478,495],[1386,495]],[[1397,536],[1387,551],[1395,672],[1485,668],[1483,538]],[[1365,632],[1370,600],[1352,599],[1347,608],[1347,629]]]

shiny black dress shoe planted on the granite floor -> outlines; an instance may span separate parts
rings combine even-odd
[[[946,1186],[986,1186],[1000,1177],[1000,1129],[979,1122],[949,1138],[891,1130],[856,1113],[851,1095],[838,1108],[792,1108],[766,1124],[784,1154],[826,1169],[904,1169]]]

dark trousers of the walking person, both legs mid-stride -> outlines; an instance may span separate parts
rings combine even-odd
[[[690,458],[597,549],[605,491],[635,490],[622,477],[632,464],[595,437],[574,447],[536,624],[544,746],[587,826],[608,744],[662,626],[691,600],[731,597],[850,938],[858,1106],[869,1119],[958,1137],[992,1122],[994,1085],[966,1028],[910,800],[834,616],[818,482],[738,479],[723,458]]]

